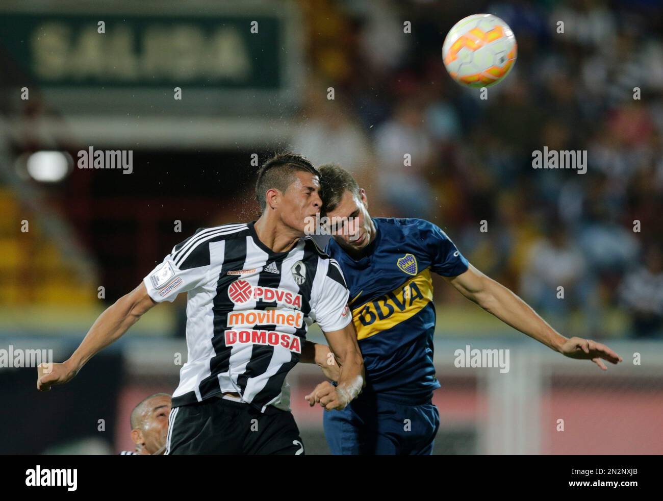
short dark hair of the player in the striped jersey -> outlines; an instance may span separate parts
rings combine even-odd
[[[305,157],[296,153],[278,153],[263,164],[255,182],[255,198],[258,200],[261,210],[265,210],[267,206],[265,198],[267,190],[276,189],[284,193],[294,182],[296,172],[307,172],[320,177],[318,169],[313,167],[313,164]]]

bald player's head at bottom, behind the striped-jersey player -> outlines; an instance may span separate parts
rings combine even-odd
[[[143,399],[131,411],[131,439],[136,451],[145,455],[160,455],[166,450],[168,415],[172,400],[167,393],[157,393]]]

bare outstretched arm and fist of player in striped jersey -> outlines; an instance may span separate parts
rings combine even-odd
[[[156,303],[149,297],[145,283],[124,295],[108,307],[92,324],[80,346],[62,364],[40,364],[37,368],[37,390],[48,392],[51,386],[70,381],[99,351],[117,340],[135,324],[141,315]]]

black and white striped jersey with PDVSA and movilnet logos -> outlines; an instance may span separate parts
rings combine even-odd
[[[253,224],[198,230],[143,280],[158,303],[188,292],[188,361],[173,407],[230,392],[261,411],[289,409],[286,374],[308,326],[331,332],[351,321],[336,261],[308,237],[276,253]]]

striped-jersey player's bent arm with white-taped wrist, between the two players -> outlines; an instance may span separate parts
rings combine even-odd
[[[361,393],[364,386],[364,360],[357,344],[357,333],[350,322],[340,330],[325,332],[331,352],[338,361],[340,374],[337,386],[325,381],[306,395],[309,405],[319,402],[326,410],[345,409]]]

